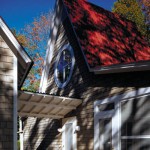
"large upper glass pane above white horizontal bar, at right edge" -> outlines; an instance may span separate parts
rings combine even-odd
[[[121,136],[150,135],[150,97],[121,103]]]

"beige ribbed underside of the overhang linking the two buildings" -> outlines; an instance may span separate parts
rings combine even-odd
[[[61,119],[81,104],[80,99],[19,91],[18,115]]]

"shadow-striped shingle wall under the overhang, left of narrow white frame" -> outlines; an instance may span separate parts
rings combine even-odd
[[[58,120],[29,117],[24,120],[24,150],[61,150]]]

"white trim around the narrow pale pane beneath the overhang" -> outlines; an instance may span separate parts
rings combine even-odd
[[[68,123],[73,124],[73,150],[77,150],[77,133],[76,133],[76,126],[77,126],[77,119],[76,117],[69,117],[64,118],[62,120],[62,150],[65,150],[65,125]]]

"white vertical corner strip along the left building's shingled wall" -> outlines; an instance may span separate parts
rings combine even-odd
[[[18,97],[18,65],[17,57],[13,58],[14,82],[13,82],[13,150],[17,150],[17,97]]]

